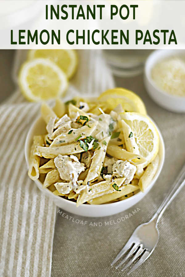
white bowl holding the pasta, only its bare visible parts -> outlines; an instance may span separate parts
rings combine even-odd
[[[29,156],[30,156],[30,148],[31,144],[33,143],[33,136],[39,135],[39,134],[45,134],[45,122],[40,117],[35,120],[35,122],[32,124],[26,138],[25,143],[25,156],[27,165],[29,165]],[[159,166],[157,169],[157,172],[150,183],[150,185],[147,187],[146,191],[142,193],[141,191],[137,194],[133,195],[132,197],[111,203],[111,204],[101,204],[101,205],[88,205],[88,204],[82,204],[80,207],[76,207],[76,203],[72,202],[70,200],[64,199],[60,196],[54,195],[51,191],[48,189],[42,188],[42,183],[39,180],[36,180],[35,183],[37,184],[37,187],[47,196],[50,196],[51,199],[54,201],[54,203],[60,207],[61,209],[64,209],[65,211],[68,211],[70,213],[76,214],[76,215],[82,215],[82,216],[89,216],[89,217],[100,217],[100,216],[107,216],[107,215],[114,215],[121,211],[124,211],[126,209],[129,209],[138,201],[140,201],[151,189],[151,187],[154,185],[155,181],[157,180],[164,163],[164,157],[165,157],[165,148],[164,148],[164,141],[161,135],[160,130],[157,128],[159,133]]]

